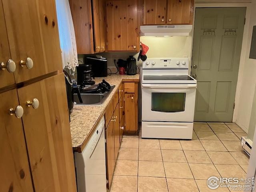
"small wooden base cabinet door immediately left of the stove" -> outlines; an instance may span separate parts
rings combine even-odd
[[[125,104],[125,130],[126,131],[137,131],[136,128],[136,105],[135,105],[135,94],[126,93],[124,94]]]

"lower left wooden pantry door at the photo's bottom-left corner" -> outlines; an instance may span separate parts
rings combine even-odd
[[[21,119],[8,110],[19,105],[17,90],[0,94],[0,191],[33,192]]]

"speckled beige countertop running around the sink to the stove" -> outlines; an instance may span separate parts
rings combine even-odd
[[[125,81],[139,81],[140,75],[119,75],[112,74],[107,77],[96,77],[95,84],[102,82],[105,79],[110,85],[115,85],[116,87],[110,92],[106,100],[102,105],[98,106],[76,106],[74,105],[73,111],[70,114],[70,131],[72,139],[73,150],[81,150],[82,144],[88,138],[89,133],[94,128],[99,118],[102,116],[106,106],[114,96],[114,93],[118,89],[120,83]]]

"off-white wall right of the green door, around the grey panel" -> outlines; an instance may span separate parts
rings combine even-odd
[[[252,0],[251,10],[256,10],[256,0]],[[248,36],[246,37],[246,47],[242,49],[242,52],[245,54],[245,58],[244,61],[240,61],[240,75],[238,76],[238,86],[236,91],[236,108],[233,118],[234,122],[236,122],[246,132],[248,132],[250,121],[253,122],[253,119],[255,118],[251,116],[251,113],[256,86],[256,60],[249,59],[249,53],[252,27],[256,25],[256,13],[252,11],[250,17],[247,19],[249,20],[249,30]],[[250,130],[249,132],[253,133],[255,125],[250,125],[250,129],[253,130]]]

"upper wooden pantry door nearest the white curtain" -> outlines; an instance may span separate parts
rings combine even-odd
[[[2,0],[2,4],[16,83],[62,69],[55,1]]]

